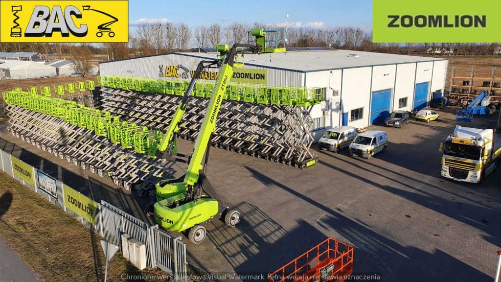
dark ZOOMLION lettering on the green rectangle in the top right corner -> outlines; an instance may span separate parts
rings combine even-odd
[[[487,17],[485,15],[388,15],[389,28],[485,28]]]

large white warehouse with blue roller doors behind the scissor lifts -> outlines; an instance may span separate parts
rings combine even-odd
[[[320,48],[319,48],[320,49]],[[196,68],[215,53],[171,53],[100,64],[101,75],[162,78],[167,68]],[[268,85],[321,87],[311,111],[316,140],[337,125],[367,127],[393,110],[420,109],[442,91],[447,60],[349,50],[288,51],[245,55],[245,68],[267,69]],[[172,77],[167,77],[171,79]]]

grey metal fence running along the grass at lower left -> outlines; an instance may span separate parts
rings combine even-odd
[[[181,237],[174,237],[160,230],[158,225],[151,226],[105,201],[97,203],[95,222],[91,223],[65,205],[65,187],[61,181],[52,179],[38,169],[18,160],[26,168],[30,168],[28,173],[31,173],[35,184],[31,185],[21,177],[22,175],[14,173],[13,159],[11,158],[9,153],[0,150],[0,168],[2,171],[40,194],[112,244],[121,246],[122,234],[128,234],[142,242],[146,246],[146,264],[148,267],[158,267],[168,272],[173,275],[175,281],[184,281],[186,279],[186,245],[181,241]],[[49,180],[52,179],[52,183],[55,184],[51,193],[42,187],[39,172],[41,176],[48,177]]]

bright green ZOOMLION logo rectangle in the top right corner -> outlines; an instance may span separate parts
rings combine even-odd
[[[501,1],[373,0],[377,43],[501,42]]]

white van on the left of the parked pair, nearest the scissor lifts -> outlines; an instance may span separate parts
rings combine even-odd
[[[336,126],[325,131],[318,142],[318,149],[339,153],[339,150],[350,146],[357,136],[357,128],[352,126]]]

